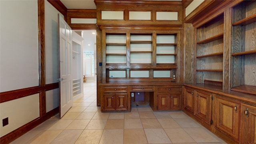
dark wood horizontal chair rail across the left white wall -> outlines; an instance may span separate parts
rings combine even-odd
[[[30,88],[23,88],[19,90],[11,90],[8,92],[1,92],[0,93],[0,103],[8,102],[10,100],[15,100],[18,98],[23,98],[25,96],[30,96],[32,94],[37,94],[42,92],[43,90],[53,90],[59,88],[58,82],[53,84],[47,84],[45,87],[34,86]]]

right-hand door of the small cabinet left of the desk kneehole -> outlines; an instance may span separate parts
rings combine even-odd
[[[127,94],[116,94],[116,110],[127,110]]]

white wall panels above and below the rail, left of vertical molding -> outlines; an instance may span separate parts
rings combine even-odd
[[[36,0],[0,0],[1,92],[39,85]],[[0,104],[0,136],[39,117],[39,94]],[[2,126],[2,119],[9,124]]]

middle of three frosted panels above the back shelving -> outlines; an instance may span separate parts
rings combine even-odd
[[[151,20],[151,12],[129,12],[129,20]]]

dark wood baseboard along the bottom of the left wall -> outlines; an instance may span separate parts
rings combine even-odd
[[[51,118],[55,114],[58,114],[58,112],[59,112],[59,107],[54,108],[50,112],[47,112],[46,116],[43,116],[41,118],[40,117],[36,118],[36,119],[32,120],[31,122],[21,126],[20,128],[17,128],[16,130],[10,132],[9,134],[6,134],[5,136],[2,136],[0,138],[1,144],[9,144],[10,142],[14,141],[18,137],[25,134],[26,132],[32,130],[33,128],[35,128],[36,126],[41,124],[42,122],[48,120],[49,118]]]

